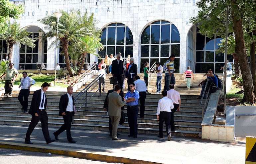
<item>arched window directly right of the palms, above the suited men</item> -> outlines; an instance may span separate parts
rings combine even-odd
[[[98,54],[101,58],[105,55],[121,53],[123,58],[127,55],[133,57],[133,36],[129,27],[122,23],[111,23],[102,29],[101,43],[104,50]]]

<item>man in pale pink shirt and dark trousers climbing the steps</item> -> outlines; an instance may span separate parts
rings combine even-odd
[[[180,110],[181,106],[181,96],[180,93],[174,90],[174,84],[169,85],[169,91],[167,91],[167,97],[173,101],[174,107],[171,109],[171,132],[175,132],[174,125],[174,112]]]

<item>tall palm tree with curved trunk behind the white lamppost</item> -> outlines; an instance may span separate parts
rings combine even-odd
[[[88,17],[87,11],[83,16],[81,16],[79,10],[72,10],[70,13],[67,13],[64,10],[61,10],[60,12],[62,13],[62,17],[59,20],[58,38],[62,43],[68,74],[72,76],[68,47],[74,44],[82,44],[81,38],[84,36],[100,36],[101,31],[95,27],[93,14]],[[49,29],[49,32],[47,32],[43,37],[53,38],[56,36],[57,27],[55,17],[48,16],[38,21],[46,24],[46,28]],[[56,42],[53,42],[50,47],[54,47],[55,44]]]

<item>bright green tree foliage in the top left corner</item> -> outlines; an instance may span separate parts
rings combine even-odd
[[[9,0],[0,0],[0,27],[2,23],[8,21],[10,18],[19,19],[20,15],[24,12],[24,5],[15,5]],[[2,29],[3,30],[3,29]],[[2,33],[0,29],[0,33]]]

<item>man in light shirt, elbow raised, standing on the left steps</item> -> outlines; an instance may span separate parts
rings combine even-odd
[[[26,71],[22,72],[23,77],[21,78],[21,83],[19,88],[21,87],[18,100],[22,105],[21,110],[24,110],[23,112],[26,113],[28,111],[28,98],[30,94],[30,87],[36,83],[34,79],[31,77],[28,77],[28,74]],[[23,100],[24,98],[24,100]]]

